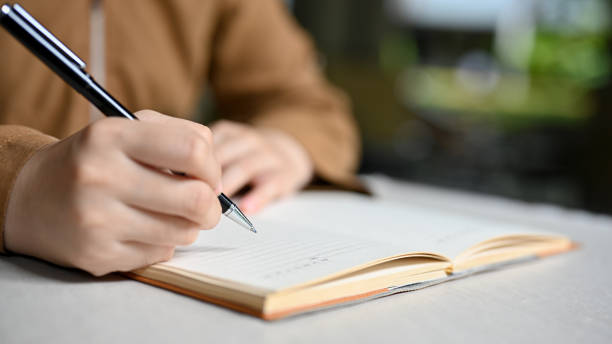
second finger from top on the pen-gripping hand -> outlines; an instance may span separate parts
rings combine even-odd
[[[133,163],[124,169],[117,183],[117,197],[124,203],[170,216],[182,217],[203,228],[212,228],[221,214],[221,205],[210,185],[169,175]]]

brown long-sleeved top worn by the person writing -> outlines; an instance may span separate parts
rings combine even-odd
[[[85,61],[93,1],[20,4]],[[132,111],[190,118],[210,85],[223,118],[281,129],[319,177],[355,186],[359,140],[280,0],[102,0],[106,89]],[[44,145],[89,123],[88,102],[0,30],[0,252],[13,183]],[[32,214],[36,216],[36,214]]]

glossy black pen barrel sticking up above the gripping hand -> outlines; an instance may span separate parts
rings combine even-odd
[[[7,5],[2,6],[0,25],[66,83],[94,104],[103,114],[133,120],[137,119],[129,110],[98,85],[89,74],[57,51],[56,47],[29,26],[19,14],[12,11]]]

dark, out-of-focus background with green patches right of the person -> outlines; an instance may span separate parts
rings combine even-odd
[[[361,173],[612,213],[607,0],[293,0]]]

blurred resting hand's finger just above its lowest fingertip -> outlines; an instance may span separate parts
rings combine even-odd
[[[259,153],[244,156],[223,170],[223,191],[232,195],[247,185],[258,174],[276,168],[278,160],[271,154]]]

